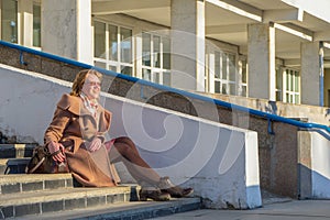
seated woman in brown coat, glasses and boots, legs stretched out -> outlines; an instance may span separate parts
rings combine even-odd
[[[63,95],[58,101],[44,138],[54,154],[53,160],[57,163],[66,160],[73,176],[82,186],[117,186],[119,178],[111,163],[122,161],[142,186],[140,200],[168,200],[190,195],[191,188],[183,189],[174,186],[168,177],[160,177],[141,158],[131,139],[105,140],[112,114],[98,103],[100,85],[100,73],[81,70],[70,95]]]

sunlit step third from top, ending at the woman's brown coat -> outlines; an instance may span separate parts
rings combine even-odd
[[[73,185],[72,174],[0,175],[0,195],[73,188]]]

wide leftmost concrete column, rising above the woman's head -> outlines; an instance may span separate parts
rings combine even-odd
[[[92,64],[90,0],[43,0],[44,52]]]

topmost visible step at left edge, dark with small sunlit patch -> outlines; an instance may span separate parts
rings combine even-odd
[[[0,158],[31,157],[37,144],[0,144]]]

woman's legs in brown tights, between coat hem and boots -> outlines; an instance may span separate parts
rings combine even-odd
[[[110,148],[109,156],[113,163],[123,162],[139,184],[144,182],[157,185],[161,180],[160,175],[140,156],[135,144],[130,138],[121,136],[116,139],[113,146]]]

